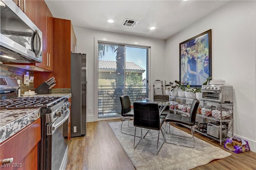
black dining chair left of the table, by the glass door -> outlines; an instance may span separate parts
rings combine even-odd
[[[130,118],[134,116],[133,110],[131,109],[130,98],[127,95],[120,96],[119,98],[120,98],[121,107],[122,107],[121,108],[121,115],[123,116],[122,125],[121,125],[121,133],[124,133],[124,134],[127,134],[127,135],[132,135],[132,134],[125,133],[125,132],[122,131],[122,126],[123,126],[124,120],[128,119],[128,127],[131,127],[131,126],[129,126]]]

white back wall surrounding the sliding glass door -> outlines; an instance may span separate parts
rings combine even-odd
[[[98,120],[98,84],[94,84],[98,79],[98,41],[108,41],[114,43],[140,45],[150,47],[149,72],[150,86],[153,86],[154,80],[164,80],[164,58],[165,41],[160,39],[145,38],[133,35],[110,33],[92,29],[74,27],[76,34],[76,52],[86,53],[87,56],[87,121]],[[95,67],[96,65],[96,67]],[[152,92],[149,92],[152,95]],[[88,108],[92,108],[92,113],[88,113]]]

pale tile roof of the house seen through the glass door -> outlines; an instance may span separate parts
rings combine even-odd
[[[126,62],[126,71],[144,72],[144,68],[135,64],[134,62]],[[99,71],[103,70],[116,70],[116,61],[99,60]]]

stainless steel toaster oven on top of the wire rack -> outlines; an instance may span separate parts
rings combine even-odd
[[[202,85],[202,99],[219,103],[233,103],[233,86]]]

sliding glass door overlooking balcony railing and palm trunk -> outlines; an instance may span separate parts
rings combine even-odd
[[[98,117],[120,116],[119,96],[148,97],[148,49],[98,43]]]

